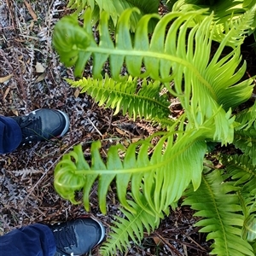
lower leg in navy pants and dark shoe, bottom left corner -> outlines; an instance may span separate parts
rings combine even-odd
[[[104,236],[102,223],[90,217],[49,226],[32,224],[0,236],[0,256],[83,255]]]

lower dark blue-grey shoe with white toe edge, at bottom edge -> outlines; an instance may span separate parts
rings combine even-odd
[[[94,218],[84,217],[50,225],[55,241],[55,256],[79,256],[90,252],[105,236],[105,228]]]

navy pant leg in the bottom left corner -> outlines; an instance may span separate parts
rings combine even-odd
[[[48,226],[32,224],[0,236],[0,256],[54,256],[55,237]]]

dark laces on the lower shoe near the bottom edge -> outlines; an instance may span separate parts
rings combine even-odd
[[[60,228],[56,227],[52,231],[55,236],[56,247],[60,251],[62,251],[61,248],[71,249],[72,247],[78,246],[73,226]]]

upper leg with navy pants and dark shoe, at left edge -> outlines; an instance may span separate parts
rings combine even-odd
[[[0,154],[18,146],[62,137],[69,128],[67,113],[41,108],[23,116],[0,116]]]

